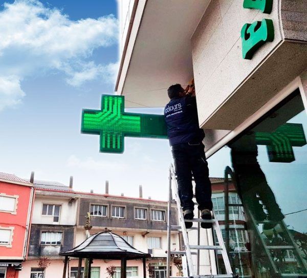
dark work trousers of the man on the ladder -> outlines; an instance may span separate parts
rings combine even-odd
[[[179,197],[183,210],[194,210],[192,173],[199,210],[212,210],[211,182],[202,143],[182,143],[172,146],[177,173]]]

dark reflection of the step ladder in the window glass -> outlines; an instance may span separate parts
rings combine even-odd
[[[227,166],[225,168],[225,179],[224,179],[224,182],[226,184],[226,189],[225,189],[225,214],[226,214],[225,222],[226,222],[226,226],[227,226],[227,223],[229,223],[229,206],[242,206],[243,208],[246,207],[244,205],[244,200],[241,200],[242,201],[241,204],[230,204],[230,203],[228,203],[228,191],[229,191],[228,176],[231,177],[232,183],[234,184],[236,190],[238,190],[234,172],[232,171],[232,169],[229,166]],[[284,223],[284,221],[280,220],[280,221],[275,222],[276,225],[275,225],[274,228],[272,228],[272,230],[273,230],[274,236],[276,236],[277,234],[280,234],[280,230],[281,230],[281,233],[284,235],[284,238],[287,238],[287,242],[289,242],[290,244],[289,245],[267,245],[264,237],[261,235],[261,233],[258,229],[258,225],[259,224],[265,224],[265,223],[271,224],[272,221],[269,221],[269,220],[257,221],[254,218],[253,214],[248,209],[245,210],[245,214],[247,216],[247,220],[249,220],[250,225],[255,232],[255,237],[258,240],[259,245],[262,247],[262,250],[264,250],[264,253],[268,257],[269,265],[271,266],[271,271],[273,272],[273,274],[276,275],[276,276],[280,276],[280,277],[289,277],[289,276],[306,277],[307,264],[305,263],[304,259],[302,258],[301,253],[300,253],[300,251],[299,251],[299,249],[298,249],[298,247],[297,247],[297,245],[294,241],[294,238],[291,235],[291,233],[290,233],[287,225]],[[276,232],[275,228],[279,228],[278,233]],[[229,245],[229,234],[228,234],[229,229],[230,229],[229,227],[226,228],[226,237],[228,238],[228,240],[226,239],[226,246],[227,246],[227,244]],[[277,265],[276,265],[276,261],[272,257],[271,250],[292,250],[294,256],[296,257],[297,263],[299,263],[303,272],[302,273],[281,273],[279,271]]]

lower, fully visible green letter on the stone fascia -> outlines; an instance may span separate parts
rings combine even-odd
[[[274,40],[272,19],[262,19],[245,24],[241,30],[243,59],[252,59],[255,52],[266,42]]]

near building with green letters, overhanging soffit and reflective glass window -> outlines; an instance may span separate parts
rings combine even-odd
[[[218,216],[233,272],[306,276],[307,2],[119,4],[116,91],[126,107],[164,107],[171,84],[194,78],[210,171],[224,176],[227,169],[245,213],[239,226],[227,213]],[[223,195],[216,197],[218,210]],[[235,208],[230,201],[224,195],[228,212]],[[241,249],[233,233],[246,236]]]

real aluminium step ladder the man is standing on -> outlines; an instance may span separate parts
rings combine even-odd
[[[174,193],[175,199],[172,200],[172,190]],[[177,204],[177,210],[178,210],[178,220],[180,225],[171,225],[171,205],[172,203]],[[230,266],[229,258],[227,255],[227,251],[225,248],[222,232],[220,229],[220,225],[218,224],[218,221],[215,217],[214,211],[213,212],[213,219],[212,220],[204,220],[200,218],[194,218],[192,220],[186,220],[186,222],[198,222],[198,227],[191,227],[189,229],[186,229],[185,224],[184,224],[184,218],[183,218],[183,213],[180,205],[180,199],[179,199],[179,193],[178,193],[178,183],[177,183],[177,178],[176,174],[174,171],[174,167],[171,165],[169,168],[169,196],[168,196],[168,210],[167,210],[167,238],[168,238],[168,245],[167,245],[167,270],[166,270],[166,278],[173,278],[176,276],[170,276],[170,261],[171,261],[171,254],[179,254],[182,255],[182,261],[184,260],[187,261],[187,269],[185,271],[185,263],[183,263],[183,272],[184,272],[184,278],[205,278],[205,277],[210,277],[210,278],[232,278],[233,273],[232,269]],[[213,229],[215,230],[217,240],[219,245],[200,245],[200,233],[201,233],[201,227],[200,223],[201,222],[207,222],[207,223],[212,223],[213,224]],[[189,236],[188,236],[188,231],[187,230],[197,230],[198,231],[198,245],[190,245],[189,244]],[[185,250],[182,251],[172,251],[170,249],[170,241],[171,241],[171,231],[172,230],[179,230],[182,232],[183,236],[183,241],[184,241],[184,248]],[[193,250],[193,251],[191,251]],[[196,250],[196,251],[195,251]],[[209,274],[209,275],[200,275],[199,274],[199,269],[200,269],[200,250],[221,250],[222,252],[222,257],[224,260],[225,268],[227,274]],[[197,270],[195,269],[193,265],[193,260],[192,256],[197,256]],[[215,263],[214,263],[215,264]],[[211,265],[212,269],[212,265]]]

